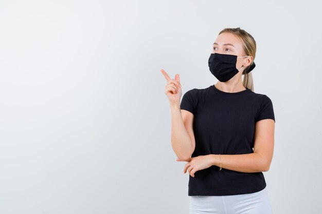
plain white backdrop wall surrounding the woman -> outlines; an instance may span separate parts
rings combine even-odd
[[[273,212],[319,213],[318,4],[1,1],[0,213],[188,213],[160,69],[183,93],[215,84],[227,27],[254,36],[254,89],[274,106]]]

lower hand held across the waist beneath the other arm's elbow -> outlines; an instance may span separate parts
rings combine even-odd
[[[176,159],[176,161],[180,160]],[[198,157],[189,158],[185,161],[187,161],[188,163],[185,165],[183,173],[186,173],[188,171],[190,176],[193,178],[196,171],[209,168],[213,165],[213,157],[211,157],[211,154],[199,155]]]

